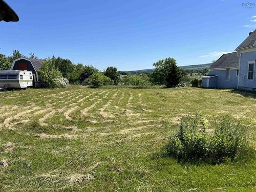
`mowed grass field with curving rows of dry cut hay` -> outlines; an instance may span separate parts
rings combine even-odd
[[[256,141],[256,95],[231,90],[31,89],[0,93],[3,191],[255,191],[256,160],[162,155],[179,119],[230,114]],[[254,180],[252,178],[255,178]]]

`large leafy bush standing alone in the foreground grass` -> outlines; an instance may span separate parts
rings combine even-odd
[[[208,132],[207,122],[197,115],[183,117],[179,131],[169,136],[167,155],[179,161],[210,163],[236,159],[247,146],[246,127],[229,116],[217,119],[213,126],[213,132]]]

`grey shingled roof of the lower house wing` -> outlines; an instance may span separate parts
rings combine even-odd
[[[239,66],[239,55],[237,52],[222,55],[217,61],[212,63],[209,69],[232,68]]]

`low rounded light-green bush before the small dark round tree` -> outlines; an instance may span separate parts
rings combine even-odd
[[[96,72],[90,77],[90,84],[92,88],[99,88],[101,86],[112,85],[113,81],[102,73]]]

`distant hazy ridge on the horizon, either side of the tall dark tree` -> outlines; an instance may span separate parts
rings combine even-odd
[[[205,64],[200,64],[200,65],[189,65],[189,66],[180,66],[181,69],[184,69],[185,71],[190,71],[190,70],[203,70],[203,69],[208,69],[210,67],[211,63],[205,63]],[[135,70],[135,71],[121,71],[121,73],[126,74],[146,74],[146,73],[152,73],[154,72],[155,69],[142,69],[142,70]]]

